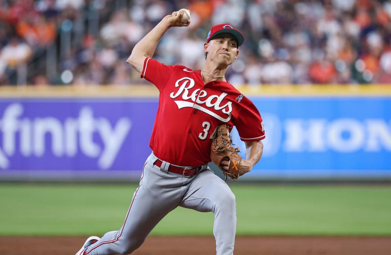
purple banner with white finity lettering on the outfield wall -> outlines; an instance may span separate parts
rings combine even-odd
[[[0,101],[0,169],[137,170],[151,153],[156,99]]]

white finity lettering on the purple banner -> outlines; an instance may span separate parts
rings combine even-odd
[[[8,105],[0,119],[0,168],[9,168],[17,152],[24,158],[43,157],[52,153],[55,157],[74,157],[78,153],[96,158],[101,169],[108,169],[118,155],[129,134],[131,122],[122,117],[113,125],[107,118],[95,117],[85,106],[77,117],[63,122],[53,116],[24,116],[22,104]],[[94,140],[94,134],[102,145]],[[50,141],[48,146],[48,141]],[[80,152],[79,152],[80,150]]]

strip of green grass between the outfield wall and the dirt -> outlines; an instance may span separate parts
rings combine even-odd
[[[0,184],[0,235],[102,234],[136,185]],[[391,234],[391,186],[232,185],[238,234]],[[152,234],[212,234],[213,213],[177,208]]]

